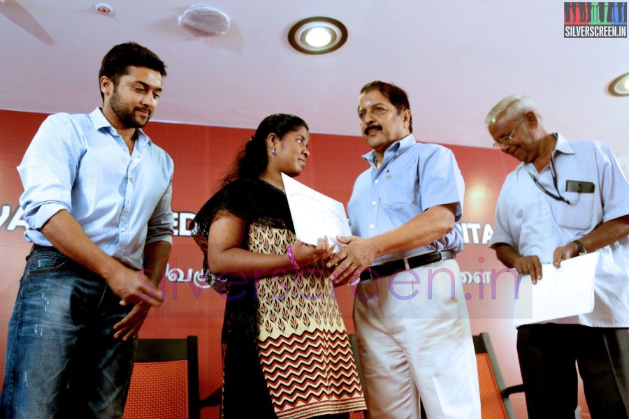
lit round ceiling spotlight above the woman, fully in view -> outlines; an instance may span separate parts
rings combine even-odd
[[[304,54],[326,54],[347,41],[347,28],[331,17],[308,17],[289,31],[289,43]]]

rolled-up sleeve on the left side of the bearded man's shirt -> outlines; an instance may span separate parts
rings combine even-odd
[[[20,206],[29,228],[39,230],[60,210],[72,210],[72,185],[81,150],[67,114],[51,115],[41,124],[17,166],[24,186]]]

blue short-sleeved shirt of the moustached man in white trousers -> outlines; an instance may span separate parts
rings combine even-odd
[[[407,135],[386,149],[379,168],[375,167],[375,152],[363,158],[371,168],[356,179],[347,205],[352,234],[373,237],[386,233],[436,205],[456,203],[456,221],[461,219],[465,184],[451,150],[421,144]],[[424,247],[391,253],[375,263],[442,249],[463,250],[458,228]]]

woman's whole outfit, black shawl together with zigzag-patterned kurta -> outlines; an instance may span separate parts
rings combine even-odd
[[[243,249],[285,254],[295,240],[282,191],[241,179],[212,196],[191,223],[204,255],[210,224],[223,212],[246,221]],[[224,418],[305,419],[366,409],[329,273],[321,263],[245,281],[237,270],[215,277],[215,288],[227,295]]]

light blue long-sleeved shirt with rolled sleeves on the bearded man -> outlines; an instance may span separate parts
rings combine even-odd
[[[146,244],[172,243],[173,160],[139,130],[133,153],[99,108],[59,113],[41,124],[17,171],[29,242],[51,246],[39,229],[67,210],[105,253],[135,269]]]

